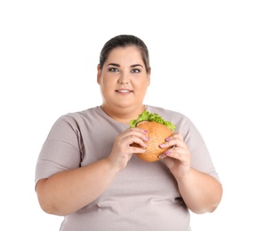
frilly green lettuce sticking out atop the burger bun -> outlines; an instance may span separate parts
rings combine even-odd
[[[134,119],[130,121],[130,127],[131,128],[135,128],[137,123],[139,123],[140,121],[155,121],[156,123],[162,123],[165,126],[169,127],[172,131],[175,131],[176,126],[169,122],[169,121],[165,121],[161,116],[159,116],[156,113],[149,113],[147,110],[145,110],[142,114],[139,115],[138,119]]]

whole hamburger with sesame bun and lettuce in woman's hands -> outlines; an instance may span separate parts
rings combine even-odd
[[[176,126],[171,122],[165,121],[156,113],[149,113],[145,110],[137,119],[130,121],[130,127],[139,127],[148,131],[149,141],[147,142],[146,152],[135,153],[141,160],[146,162],[156,162],[160,160],[159,155],[170,147],[159,147],[167,137],[174,134]],[[132,143],[132,147],[140,147]]]

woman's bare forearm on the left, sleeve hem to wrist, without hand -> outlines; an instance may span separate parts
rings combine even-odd
[[[91,165],[61,171],[36,184],[36,194],[43,211],[67,215],[98,198],[115,178],[117,168],[102,159]]]

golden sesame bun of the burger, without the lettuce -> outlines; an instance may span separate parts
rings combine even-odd
[[[170,147],[162,148],[160,144],[165,142],[167,137],[173,135],[173,131],[162,123],[156,123],[153,121],[141,121],[137,123],[137,126],[143,130],[148,131],[149,141],[147,142],[146,152],[135,153],[141,160],[146,162],[156,162],[160,160],[159,155],[164,153],[165,150]],[[133,143],[132,147],[140,147],[140,145]]]

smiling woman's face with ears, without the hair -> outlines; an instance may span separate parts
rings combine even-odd
[[[140,51],[135,46],[112,50],[102,69],[98,67],[97,82],[105,108],[138,108],[143,104],[150,73],[147,73]]]

